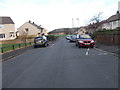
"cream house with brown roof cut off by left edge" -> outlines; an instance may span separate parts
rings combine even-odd
[[[0,17],[0,41],[16,38],[15,23],[10,17]]]

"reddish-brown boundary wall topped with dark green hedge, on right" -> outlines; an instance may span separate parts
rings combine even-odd
[[[103,30],[93,34],[94,39],[101,44],[120,45],[120,30]]]

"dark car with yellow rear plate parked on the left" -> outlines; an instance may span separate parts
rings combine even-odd
[[[39,46],[48,46],[48,41],[47,40],[44,40],[43,37],[35,37],[34,38],[34,48],[37,48]]]

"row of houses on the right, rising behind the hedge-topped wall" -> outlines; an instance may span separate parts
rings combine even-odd
[[[106,20],[101,22],[92,23],[86,26],[86,32],[94,33],[98,30],[110,30],[110,29],[120,29],[120,13],[117,11],[115,15],[112,15]]]

